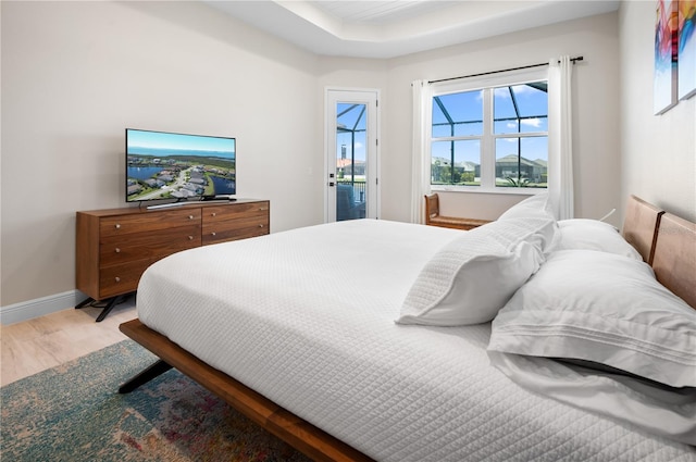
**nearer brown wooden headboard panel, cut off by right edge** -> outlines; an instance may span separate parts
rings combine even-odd
[[[696,223],[661,214],[651,265],[660,284],[696,309]]]

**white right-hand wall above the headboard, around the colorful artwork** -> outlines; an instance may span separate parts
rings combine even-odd
[[[696,221],[696,97],[652,114],[655,2],[622,2],[622,195]]]

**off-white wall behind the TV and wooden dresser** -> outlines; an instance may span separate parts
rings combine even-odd
[[[125,127],[236,136],[272,230],[323,220],[315,55],[198,2],[1,9],[3,307],[75,288],[75,211],[125,207]]]

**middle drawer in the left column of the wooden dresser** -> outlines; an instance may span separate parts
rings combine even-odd
[[[99,266],[111,266],[134,260],[169,255],[181,250],[200,247],[200,225],[179,226],[158,233],[135,233],[102,238],[99,246]]]

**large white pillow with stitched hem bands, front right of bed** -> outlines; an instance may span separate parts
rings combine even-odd
[[[493,322],[490,351],[606,364],[696,386],[696,310],[646,263],[595,250],[554,252]]]

